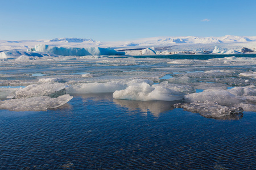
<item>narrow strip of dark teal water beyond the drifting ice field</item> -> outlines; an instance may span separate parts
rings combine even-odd
[[[127,57],[167,58],[167,59],[211,59],[211,58],[225,58],[225,57],[232,57],[232,56],[255,58],[256,54],[172,54],[172,55],[154,55],[154,56],[127,56]]]

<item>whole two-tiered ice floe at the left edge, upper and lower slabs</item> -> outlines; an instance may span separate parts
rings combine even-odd
[[[31,84],[25,88],[0,88],[2,98],[0,109],[10,111],[46,111],[64,105],[73,97],[66,93],[67,84],[44,83]]]

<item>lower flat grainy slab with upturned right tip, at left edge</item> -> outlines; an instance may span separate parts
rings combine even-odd
[[[39,96],[28,99],[4,100],[0,101],[0,109],[8,109],[9,111],[46,111],[47,109],[61,107],[72,98],[69,95],[62,95],[57,98]]]

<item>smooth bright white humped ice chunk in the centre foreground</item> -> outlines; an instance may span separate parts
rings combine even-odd
[[[140,83],[131,85],[125,90],[117,90],[113,93],[114,99],[125,99],[125,100],[162,100],[162,101],[174,101],[181,100],[184,94],[165,88],[162,86],[150,86],[147,83]]]

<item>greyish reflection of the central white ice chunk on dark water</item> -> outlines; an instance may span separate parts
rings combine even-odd
[[[154,117],[159,117],[160,113],[171,111],[174,109],[173,104],[179,103],[180,101],[137,101],[137,100],[113,100],[115,104],[121,107],[126,107],[131,111],[140,109],[142,112],[147,113],[148,111],[153,114]]]

